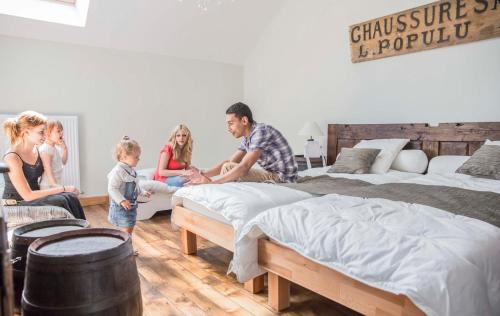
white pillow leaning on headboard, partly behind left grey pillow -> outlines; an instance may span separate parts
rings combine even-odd
[[[396,159],[396,156],[409,141],[409,139],[399,138],[362,140],[357,143],[354,148],[380,149],[381,151],[377,158],[375,158],[375,162],[370,169],[370,173],[383,174],[389,170],[392,162]]]

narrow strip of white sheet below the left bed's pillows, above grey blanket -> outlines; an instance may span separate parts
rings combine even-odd
[[[365,173],[365,174],[350,174],[350,173],[328,173],[327,170],[330,169],[331,166],[321,167],[321,168],[311,168],[304,171],[299,172],[299,176],[311,176],[317,177],[321,175],[327,175],[334,178],[347,178],[347,179],[358,179],[366,182],[370,182],[373,184],[382,184],[382,183],[391,183],[398,182],[401,180],[411,179],[415,177],[422,176],[419,173],[412,172],[402,172],[396,170],[389,170],[384,174],[374,174],[374,173]]]

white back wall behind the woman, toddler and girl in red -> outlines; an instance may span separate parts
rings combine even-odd
[[[82,189],[106,193],[111,149],[123,136],[156,166],[172,127],[194,135],[194,164],[226,158],[237,142],[225,110],[243,97],[240,66],[0,36],[0,113],[27,109],[80,119]]]

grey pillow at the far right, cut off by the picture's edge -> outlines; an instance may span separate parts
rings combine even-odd
[[[500,146],[483,145],[457,170],[479,178],[500,180]]]

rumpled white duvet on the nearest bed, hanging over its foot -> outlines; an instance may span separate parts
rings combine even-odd
[[[336,194],[262,212],[242,230],[232,271],[258,275],[265,233],[429,315],[500,315],[500,229],[436,208]]]

